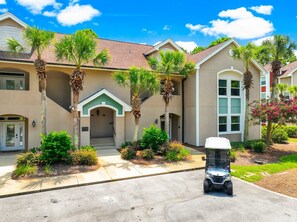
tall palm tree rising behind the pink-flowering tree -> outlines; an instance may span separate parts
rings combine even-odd
[[[268,56],[267,61],[271,63],[272,88],[270,98],[274,100],[277,97],[275,91],[277,78],[282,75],[280,71],[281,67],[284,65],[282,61],[285,61],[288,57],[292,57],[294,49],[296,49],[296,44],[290,40],[289,36],[274,35],[273,39],[264,41],[262,45],[266,47],[266,52],[268,52],[266,53]],[[269,146],[271,142],[271,133],[272,123],[268,121],[266,136],[267,146]]]

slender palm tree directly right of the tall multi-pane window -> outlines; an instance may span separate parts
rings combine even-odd
[[[250,89],[253,87],[253,75],[250,72],[250,63],[255,57],[255,49],[256,47],[252,43],[233,48],[233,58],[241,60],[245,67],[245,72],[243,73],[243,89],[245,90],[244,141],[247,141],[249,137],[249,100]]]

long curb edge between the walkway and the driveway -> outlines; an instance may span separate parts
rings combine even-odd
[[[147,175],[141,175],[141,176],[124,177],[124,178],[118,178],[118,179],[110,179],[110,180],[103,180],[103,181],[94,181],[94,182],[81,183],[81,184],[77,183],[77,184],[66,185],[66,186],[61,186],[61,187],[52,187],[52,188],[46,188],[46,189],[40,189],[40,190],[31,190],[31,191],[24,191],[24,192],[19,192],[19,193],[4,194],[4,195],[0,195],[0,199],[7,198],[7,197],[15,197],[15,196],[21,196],[21,195],[28,195],[28,194],[33,194],[33,193],[47,192],[47,191],[52,191],[52,190],[62,190],[62,189],[68,189],[68,188],[74,188],[74,187],[82,187],[82,186],[89,186],[89,185],[96,185],[96,184],[110,183],[110,182],[117,182],[117,181],[137,179],[137,178],[144,178],[144,177],[151,177],[151,176],[160,176],[160,175],[166,175],[166,174],[172,174],[172,173],[181,173],[181,172],[187,172],[187,171],[201,170],[201,169],[204,169],[204,168],[205,167],[195,167],[195,168],[190,168],[190,169],[175,170],[175,171],[155,173],[155,174],[147,174]]]

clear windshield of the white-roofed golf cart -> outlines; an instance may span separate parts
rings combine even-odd
[[[206,150],[206,168],[229,169],[229,150]]]

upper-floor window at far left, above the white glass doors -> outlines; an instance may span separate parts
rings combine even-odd
[[[25,90],[25,74],[22,73],[0,73],[0,89]]]

